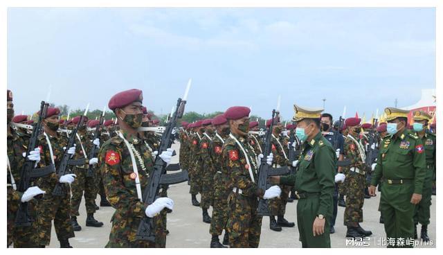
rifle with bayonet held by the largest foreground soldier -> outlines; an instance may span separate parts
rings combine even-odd
[[[185,96],[183,96],[184,99],[181,100],[181,98],[179,98],[177,100],[177,105],[174,108],[173,114],[171,114],[171,118],[168,119],[165,132],[163,132],[161,137],[158,150],[159,155],[172,145],[172,137],[174,137],[174,128],[177,125],[177,119],[181,118],[183,116],[183,112],[185,111],[186,98],[188,97],[190,82],[191,80],[189,80],[188,87],[186,87]],[[163,161],[163,159],[161,159],[161,157],[157,156],[154,162],[154,170],[152,170],[152,173],[147,181],[145,191],[143,192],[143,204],[145,204],[145,206],[152,204],[158,197],[161,186],[178,184],[186,181],[188,181],[188,171],[182,170],[179,173],[166,174],[166,163]],[[153,218],[145,215],[141,220],[140,225],[138,225],[136,239],[154,242],[155,233],[153,227]]]

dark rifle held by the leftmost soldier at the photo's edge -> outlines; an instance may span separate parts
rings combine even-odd
[[[46,118],[46,113],[48,111],[48,103],[42,101],[40,105],[39,118],[37,121],[37,125],[33,128],[33,133],[30,136],[28,143],[28,150],[26,150],[26,158],[24,165],[21,167],[20,172],[20,182],[17,187],[17,191],[24,193],[29,187],[33,180],[39,177],[45,177],[46,175],[50,175],[55,172],[55,167],[53,164],[49,164],[44,168],[35,168],[35,161],[30,161],[27,157],[29,153],[35,149],[37,146],[37,139],[42,130],[42,120]],[[39,199],[42,195],[37,195],[35,198]],[[15,218],[15,225],[21,227],[30,226],[30,222],[33,222],[34,219],[30,217],[28,211],[28,202],[21,202],[19,206],[19,210],[17,211],[17,217]]]

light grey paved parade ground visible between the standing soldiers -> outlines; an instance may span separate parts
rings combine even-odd
[[[179,142],[176,142],[173,148],[177,151],[177,156],[174,156],[172,163],[177,163],[179,159]],[[170,234],[166,238],[166,247],[168,248],[209,248],[210,234],[209,224],[202,222],[201,209],[192,206],[191,197],[189,194],[188,184],[181,183],[170,186],[168,190],[168,197],[174,200],[174,211],[168,214],[168,230]],[[377,197],[365,199],[363,207],[364,222],[361,226],[372,231],[370,236],[370,247],[379,247],[378,243],[381,238],[386,238],[383,225],[379,223],[380,213],[377,211],[379,206],[380,193]],[[200,201],[200,196],[197,195]],[[97,204],[100,204],[100,196],[98,196]],[[286,207],[285,218],[291,222],[296,222],[296,204],[297,200],[288,203]],[[428,227],[428,235],[433,242],[432,245],[419,245],[420,247],[435,247],[435,204],[436,197],[432,197],[431,206],[431,225]],[[331,235],[332,247],[354,247],[346,245],[345,234],[346,227],[343,225],[344,207],[338,206],[338,216],[336,220],[336,233]],[[95,218],[102,221],[105,225],[103,227],[86,227],[86,210],[84,208],[84,198],[80,205],[80,216],[78,223],[82,226],[81,231],[75,232],[75,238],[69,239],[73,247],[105,247],[109,231],[111,229],[111,219],[114,209],[112,207],[101,207],[95,214]],[[209,210],[211,214],[211,210]],[[420,226],[418,227],[418,232]],[[223,236],[220,237],[222,240]],[[363,245],[363,243],[360,243]],[[366,245],[366,243],[364,243]],[[60,247],[57,237],[55,236],[54,227],[51,234],[51,245],[49,247]],[[283,228],[281,232],[271,231],[269,229],[269,218],[265,217],[262,221],[262,235],[260,238],[260,247],[287,247],[298,248],[301,247],[298,241],[297,225],[293,228]]]

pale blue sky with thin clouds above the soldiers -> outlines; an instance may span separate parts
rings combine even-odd
[[[435,88],[434,8],[10,8],[8,88],[17,114],[51,102],[102,109],[125,89],[169,112],[252,107],[282,95],[334,117],[412,105]]]

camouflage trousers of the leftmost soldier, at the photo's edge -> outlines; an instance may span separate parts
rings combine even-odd
[[[11,188],[12,189],[12,188]],[[15,218],[17,210],[19,209],[20,197],[10,196],[8,187],[8,203],[7,203],[7,245],[8,247],[14,244],[14,248],[35,248],[39,246],[37,233],[37,211],[35,211],[35,204],[37,200],[30,200],[28,202],[29,216],[33,222],[29,227],[18,227],[15,225]],[[15,193],[15,195],[18,195]]]

